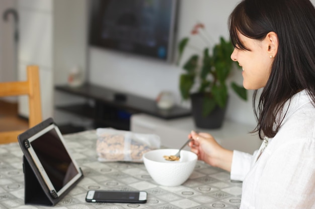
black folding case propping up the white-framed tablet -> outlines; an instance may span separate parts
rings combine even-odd
[[[34,126],[32,129],[19,135],[19,143],[23,150],[23,171],[24,171],[24,202],[25,204],[37,204],[37,205],[55,205],[62,197],[64,197],[75,184],[83,178],[83,175],[78,178],[70,187],[68,187],[60,196],[55,191],[50,191],[43,177],[41,176],[38,168],[33,162],[30,153],[28,152],[28,140],[20,140],[28,138],[34,134],[38,129],[43,129],[47,125],[53,123],[51,118],[43,121],[42,123]],[[81,170],[81,168],[80,168]],[[82,171],[82,170],[81,170]]]

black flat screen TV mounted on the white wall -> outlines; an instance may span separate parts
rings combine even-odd
[[[171,62],[177,4],[177,0],[92,0],[90,45]]]

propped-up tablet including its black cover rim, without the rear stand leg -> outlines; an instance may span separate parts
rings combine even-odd
[[[19,142],[24,146],[26,158],[31,158],[27,160],[36,166],[54,198],[62,195],[83,176],[52,119],[21,134]]]

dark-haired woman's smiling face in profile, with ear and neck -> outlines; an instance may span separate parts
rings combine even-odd
[[[269,79],[273,57],[268,53],[266,40],[250,39],[239,33],[240,41],[250,51],[234,48],[231,59],[243,68],[243,86],[246,89],[260,89]]]

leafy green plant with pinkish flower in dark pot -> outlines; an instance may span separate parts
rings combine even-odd
[[[196,24],[191,34],[192,36],[199,35],[208,43],[203,24]],[[189,42],[189,37],[180,41],[179,61],[187,47],[196,49]],[[220,37],[220,43],[212,48],[207,44],[197,54],[191,55],[183,65],[185,72],[180,76],[180,92],[184,100],[191,99],[192,114],[197,127],[221,127],[228,101],[228,86],[242,99],[247,100],[247,91],[243,86],[235,82],[227,84],[231,70],[240,69],[230,59],[232,52],[231,42]]]

